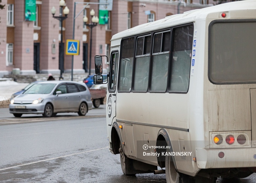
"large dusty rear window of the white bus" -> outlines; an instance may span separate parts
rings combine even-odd
[[[215,84],[256,82],[256,22],[214,22],[208,76]]]

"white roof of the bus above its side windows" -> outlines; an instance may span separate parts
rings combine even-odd
[[[244,0],[244,1],[235,1],[224,3],[216,6],[211,6],[207,8],[194,9],[190,11],[186,11],[183,14],[175,14],[163,19],[145,23],[141,25],[137,25],[133,28],[121,31],[112,36],[111,41],[120,39],[123,37],[132,36],[135,34],[140,34],[143,32],[148,32],[151,30],[166,28],[170,26],[180,25],[189,22],[195,22],[197,19],[206,19],[206,17],[211,13],[219,13],[219,12],[228,12],[235,10],[249,10],[256,9],[256,1],[255,0]],[[256,11],[254,12],[256,18]],[[218,17],[215,17],[217,19]]]

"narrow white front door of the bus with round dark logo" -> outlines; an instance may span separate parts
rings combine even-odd
[[[115,48],[116,49],[116,48]],[[107,113],[109,120],[108,125],[112,124],[113,118],[116,116],[116,100],[117,100],[117,68],[118,68],[118,50],[112,50],[110,57],[109,81],[108,81],[108,98]]]

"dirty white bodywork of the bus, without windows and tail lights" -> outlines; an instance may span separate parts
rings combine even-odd
[[[139,25],[112,37],[113,47],[120,45],[125,37],[193,22],[196,46],[192,49],[196,54],[191,57],[195,63],[190,68],[187,93],[116,92],[116,116],[109,118],[107,115],[110,149],[115,141],[111,139],[111,124],[117,122],[122,125],[120,141],[125,144],[128,158],[158,165],[157,157],[141,157],[139,145],[141,141],[156,145],[159,131],[165,129],[174,152],[191,152],[191,156],[175,156],[177,170],[181,173],[195,176],[201,169],[256,167],[253,158],[256,154],[256,84],[213,84],[208,78],[210,23],[223,20],[222,12],[227,14],[226,20],[256,18],[255,1],[236,3],[241,10],[237,11],[228,3],[219,6],[218,10],[214,7],[192,10]],[[110,94],[108,91],[107,96]],[[235,138],[243,134],[248,141],[243,145],[236,141],[218,146],[213,141],[217,134],[223,135],[224,142],[229,134]],[[223,158],[219,157],[220,152],[224,153]]]

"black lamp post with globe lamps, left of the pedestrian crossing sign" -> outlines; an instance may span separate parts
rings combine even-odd
[[[61,35],[60,35],[60,54],[59,56],[61,57],[59,59],[59,69],[60,69],[60,77],[59,80],[63,80],[62,77],[62,73],[64,71],[64,49],[63,49],[63,32],[62,32],[62,22],[63,20],[65,20],[66,18],[68,18],[68,14],[69,14],[69,8],[66,6],[64,9],[63,7],[65,6],[65,1],[64,0],[60,0],[59,1],[59,6],[61,8],[61,16],[54,16],[54,14],[56,13],[56,9],[53,7],[52,8],[52,14],[53,14],[53,18],[57,19],[58,21],[60,21],[60,25],[61,25]],[[62,15],[65,16],[62,16]]]

